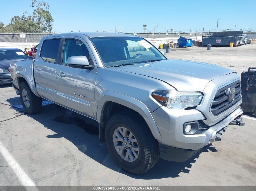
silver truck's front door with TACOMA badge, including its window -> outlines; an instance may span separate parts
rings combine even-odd
[[[63,39],[62,61],[57,67],[57,84],[59,103],[65,107],[76,110],[86,116],[95,118],[92,108],[95,108],[95,77],[97,67],[92,59],[88,44],[81,38]],[[70,56],[86,56],[89,65],[95,67],[91,70],[71,68],[67,65]]]

